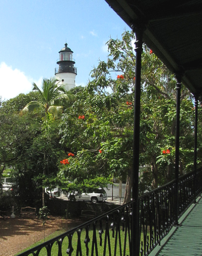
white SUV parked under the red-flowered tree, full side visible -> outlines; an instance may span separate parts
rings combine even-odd
[[[95,189],[92,193],[71,193],[68,195],[69,200],[76,201],[91,201],[92,203],[98,203],[100,201],[107,200],[107,192],[104,189]]]

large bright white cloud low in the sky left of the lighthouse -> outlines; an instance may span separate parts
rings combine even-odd
[[[27,94],[33,88],[33,79],[28,79],[25,73],[17,68],[12,69],[4,62],[0,64],[0,77],[0,96],[3,100],[13,98],[21,93]],[[38,82],[41,83],[41,80]]]

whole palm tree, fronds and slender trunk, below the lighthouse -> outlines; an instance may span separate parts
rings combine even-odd
[[[51,165],[49,152],[50,148],[52,149],[52,138],[50,136],[50,127],[53,122],[53,118],[57,118],[61,115],[63,111],[63,106],[60,103],[67,102],[68,100],[72,100],[72,96],[67,94],[67,91],[64,89],[62,85],[58,84],[59,80],[51,78],[51,79],[43,79],[42,89],[34,83],[33,90],[36,90],[39,94],[38,100],[32,100],[29,102],[22,110],[21,113],[25,114],[29,111],[35,113],[43,114],[45,111],[45,118],[42,119],[42,134],[41,136],[37,136],[37,147],[38,152],[43,153],[43,175],[42,182],[45,179],[47,173],[49,173],[49,168]],[[39,155],[40,155],[39,153]],[[52,156],[53,157],[53,156]],[[42,204],[45,206],[45,187],[42,187]]]

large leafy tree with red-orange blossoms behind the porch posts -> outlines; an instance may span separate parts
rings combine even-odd
[[[60,127],[62,144],[75,154],[61,171],[71,181],[69,186],[75,180],[79,183],[94,177],[125,179],[127,176],[125,202],[131,198],[132,185],[133,39],[133,33],[125,32],[123,40],[110,39],[107,42],[107,63],[100,61],[98,67],[93,69],[93,80],[82,93],[77,91],[75,104],[64,112]],[[145,173],[151,176],[147,186],[150,189],[173,177],[175,83],[173,74],[144,46],[140,162]],[[185,88],[181,100],[182,113],[186,113],[185,117],[181,117],[182,145],[183,152],[188,154],[192,151],[192,144],[187,142],[192,137],[193,115],[191,96]],[[79,115],[85,118],[78,119]],[[163,154],[163,150],[170,153]],[[186,168],[189,170],[190,158],[182,156],[181,165],[185,171]]]

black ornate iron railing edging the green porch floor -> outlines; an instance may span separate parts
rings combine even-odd
[[[201,170],[179,178],[179,216],[201,192]],[[175,222],[176,185],[172,181],[139,198],[140,255],[148,255]],[[117,207],[19,256],[131,255],[133,202]]]

